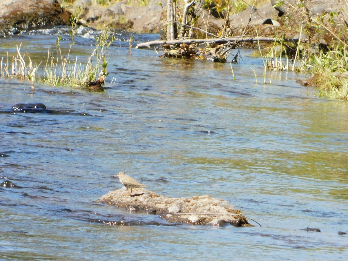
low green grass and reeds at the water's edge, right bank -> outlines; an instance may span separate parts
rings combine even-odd
[[[288,44],[276,41],[273,46],[264,49],[259,45],[259,51],[255,52],[264,59],[265,70],[309,73],[311,76],[304,85],[318,88],[318,96],[348,101],[347,46],[337,44],[334,49],[313,50],[314,45],[298,43],[289,50]],[[308,49],[312,50],[308,52]]]

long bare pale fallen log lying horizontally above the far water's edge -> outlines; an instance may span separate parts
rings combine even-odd
[[[299,38],[274,38],[274,37],[256,37],[256,36],[235,36],[227,38],[209,38],[209,39],[177,39],[177,40],[155,40],[149,42],[142,42],[137,44],[135,48],[144,48],[154,45],[180,45],[180,44],[226,44],[228,42],[238,43],[238,42],[308,42],[308,39],[300,40]]]

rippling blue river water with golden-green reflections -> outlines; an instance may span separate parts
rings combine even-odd
[[[229,63],[129,56],[127,38],[108,50],[104,92],[0,78],[0,259],[347,259],[347,102],[315,96],[296,83],[303,74],[267,72],[263,84],[251,50],[233,80]],[[1,38],[0,56],[23,42],[44,60],[55,39]],[[74,53],[91,44],[77,37]],[[11,111],[33,102],[53,113]],[[165,196],[226,199],[262,227],[169,224],[93,203],[122,187],[119,171]]]

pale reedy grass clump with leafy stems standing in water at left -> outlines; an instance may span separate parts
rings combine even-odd
[[[71,18],[71,28],[69,30],[70,46],[66,53],[60,45],[61,36],[57,37],[53,54],[48,49],[47,58],[38,65],[33,63],[29,54],[21,54],[21,45],[17,46],[17,56],[9,61],[1,58],[1,76],[19,77],[22,80],[29,79],[33,86],[34,82],[45,83],[53,86],[72,86],[86,87],[89,89],[102,90],[107,72],[106,50],[115,39],[114,33],[106,28],[95,37],[95,48],[85,63],[78,57],[71,58],[72,48],[75,44],[74,37],[78,29],[78,17]],[[26,63],[25,61],[29,61]],[[44,63],[42,68],[40,65]]]

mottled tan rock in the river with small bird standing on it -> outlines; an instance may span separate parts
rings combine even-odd
[[[95,202],[158,214],[171,223],[213,226],[228,223],[235,227],[253,226],[239,209],[223,199],[206,195],[188,198],[164,197],[144,188],[134,188],[132,196],[127,195],[127,189],[123,187],[110,191]]]

